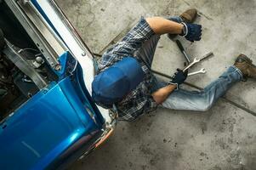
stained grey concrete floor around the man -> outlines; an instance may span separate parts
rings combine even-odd
[[[256,62],[256,0],[56,1],[96,54],[120,40],[140,16],[177,15],[197,8],[202,41],[179,40],[191,56],[213,51],[214,57],[194,68],[204,67],[208,73],[187,79],[199,87],[232,65],[237,54]],[[183,62],[176,44],[162,36],[153,68],[172,74]],[[119,122],[100,150],[70,169],[256,169],[255,85],[255,80],[237,83],[207,112],[158,109],[135,122]]]

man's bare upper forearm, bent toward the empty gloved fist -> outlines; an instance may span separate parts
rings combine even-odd
[[[159,35],[165,33],[181,34],[183,29],[182,24],[161,17],[147,18],[146,22],[151,26],[151,29]]]

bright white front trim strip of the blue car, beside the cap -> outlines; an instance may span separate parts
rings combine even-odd
[[[88,49],[82,45],[81,40],[77,37],[76,33],[72,30],[71,24],[62,14],[62,11],[58,6],[51,0],[37,0],[37,3],[46,13],[48,20],[51,21],[53,26],[60,37],[65,42],[67,48],[69,48],[71,54],[76,57],[79,64],[82,66],[83,79],[85,81],[86,88],[89,94],[92,94],[91,83],[94,80],[94,58],[89,53]],[[61,20],[62,19],[62,20]],[[111,122],[109,116],[109,110],[98,106],[102,116],[104,116],[106,122]]]

